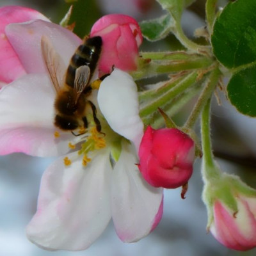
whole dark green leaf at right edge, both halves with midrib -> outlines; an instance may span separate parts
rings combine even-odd
[[[232,72],[230,102],[244,115],[256,116],[256,1],[227,4],[216,19],[212,47],[216,58]]]

